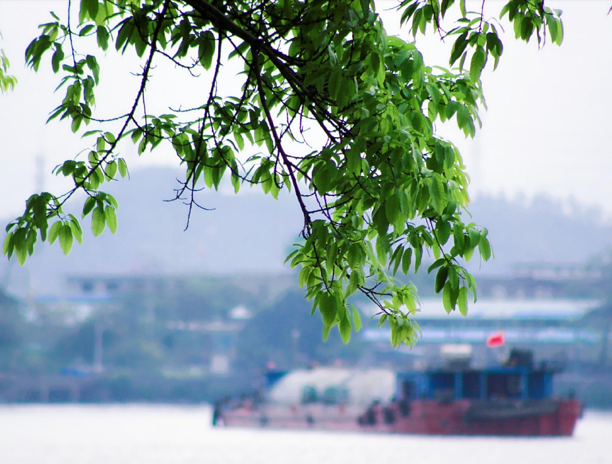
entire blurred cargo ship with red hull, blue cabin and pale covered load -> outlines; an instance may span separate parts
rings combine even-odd
[[[534,367],[531,353],[518,350],[504,364],[483,369],[455,364],[391,374],[326,368],[269,372],[266,399],[217,403],[214,420],[229,427],[571,436],[582,406],[573,397],[553,397],[558,372],[546,364]],[[299,400],[283,396],[297,386]],[[377,393],[379,399],[364,404]]]

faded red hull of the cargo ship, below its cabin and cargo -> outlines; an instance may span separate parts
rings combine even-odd
[[[577,400],[479,402],[414,400],[402,416],[397,406],[379,409],[366,421],[363,411],[343,406],[261,405],[257,410],[223,411],[226,426],[311,428],[422,435],[570,436],[581,414]],[[361,419],[360,419],[361,417]],[[364,422],[370,422],[364,424]],[[373,423],[372,423],[373,422]]]

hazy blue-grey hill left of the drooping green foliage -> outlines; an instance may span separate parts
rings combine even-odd
[[[302,215],[294,198],[248,192],[239,195],[204,190],[184,231],[187,206],[173,198],[180,171],[147,168],[132,173],[130,181],[113,182],[105,191],[119,202],[119,228],[99,238],[83,223],[83,245],[64,256],[57,244],[37,244],[24,268],[10,266],[10,287],[30,285],[35,293],[54,293],[66,274],[203,273],[283,271],[285,250],[299,234]],[[73,201],[73,212],[82,202]],[[66,208],[70,211],[71,207]],[[6,223],[6,221],[4,222]],[[2,266],[6,266],[2,263]],[[17,293],[21,293],[18,291]]]

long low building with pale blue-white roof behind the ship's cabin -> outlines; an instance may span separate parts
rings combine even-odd
[[[458,310],[447,314],[441,299],[424,299],[413,316],[422,337],[415,348],[401,348],[400,353],[411,355],[417,365],[439,363],[441,345],[463,343],[472,345],[477,364],[502,357],[512,347],[529,348],[541,360],[562,364],[596,362],[612,334],[584,319],[601,305],[592,299],[481,299],[463,317]],[[374,308],[362,310],[374,313]],[[384,326],[367,329],[363,336],[378,350],[393,349]],[[497,340],[495,348],[488,346],[491,339]]]

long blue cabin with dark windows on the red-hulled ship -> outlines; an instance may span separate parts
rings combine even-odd
[[[529,367],[428,370],[397,375],[397,395],[417,400],[531,400],[552,395],[554,370]]]

